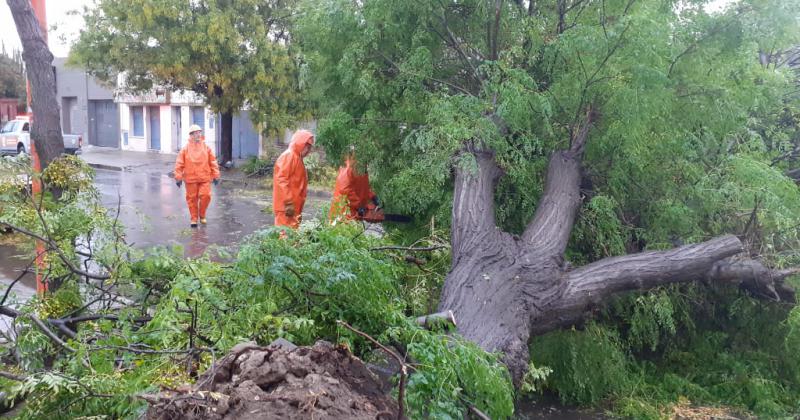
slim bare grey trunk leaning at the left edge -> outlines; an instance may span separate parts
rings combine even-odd
[[[7,0],[22,40],[22,57],[31,84],[31,144],[36,147],[41,169],[64,153],[61,122],[56,99],[53,54],[44,41],[30,0]]]

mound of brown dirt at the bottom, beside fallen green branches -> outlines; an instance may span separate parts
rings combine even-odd
[[[324,341],[239,344],[195,386],[143,398],[151,420],[397,418],[397,402],[364,363]]]

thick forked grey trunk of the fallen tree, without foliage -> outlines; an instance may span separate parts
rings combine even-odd
[[[738,284],[772,300],[794,300],[782,280],[797,270],[732,261],[742,251],[735,236],[570,269],[563,253],[581,203],[581,156],[588,127],[587,121],[570,149],[550,158],[544,194],[519,238],[495,224],[493,194],[501,171],[493,155],[469,150],[478,162],[477,172],[456,170],[453,263],[439,310],[453,311],[465,338],[502,352],[515,383],[528,366],[531,334],[574,324],[614,293],[706,280]]]

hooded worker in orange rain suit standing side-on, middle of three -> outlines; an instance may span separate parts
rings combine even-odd
[[[308,192],[308,176],[303,158],[311,153],[314,135],[308,130],[298,130],[289,147],[275,161],[272,171],[272,210],[275,226],[300,226],[303,206]]]

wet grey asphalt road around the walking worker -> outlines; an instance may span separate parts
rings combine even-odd
[[[208,225],[195,229],[189,227],[185,189],[178,188],[166,175],[98,169],[95,184],[111,214],[119,208],[119,222],[125,226],[128,244],[140,249],[181,245],[185,256],[195,257],[210,246],[236,245],[246,235],[273,224],[272,212],[264,211],[271,209],[271,191],[242,188],[235,182],[212,185]],[[320,217],[330,200],[324,193],[310,195],[303,211],[306,220]],[[28,263],[20,258],[22,252],[8,242],[0,241],[0,297],[5,291],[2,285],[15,279]],[[19,299],[33,295],[32,276],[26,275],[14,293]]]

